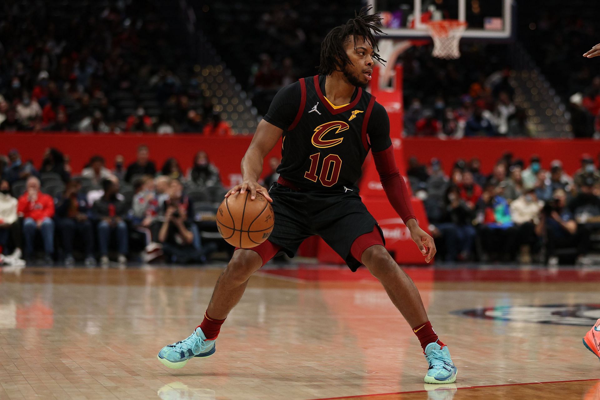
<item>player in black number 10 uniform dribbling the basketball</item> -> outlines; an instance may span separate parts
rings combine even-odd
[[[261,245],[236,249],[217,281],[202,323],[187,339],[158,353],[169,368],[213,354],[221,324],[244,294],[248,278],[280,251],[293,257],[302,240],[318,234],[352,271],[362,264],[383,284],[421,342],[429,364],[425,383],[456,380],[457,368],[448,347],[431,327],[412,279],[386,251],[382,231],[356,187],[371,150],[390,203],[425,261],[433,259],[436,246],[419,227],[398,173],[388,115],[364,90],[374,59],[380,60],[373,47],[377,48],[375,34],[381,32],[376,25],[381,18],[366,11],[329,32],[321,46],[319,75],[281,89],[257,127],[242,159],[244,181],[227,196],[247,191],[251,199],[257,193],[265,196],[272,201],[274,229]],[[280,178],[267,191],[257,181],[265,156],[282,136]]]

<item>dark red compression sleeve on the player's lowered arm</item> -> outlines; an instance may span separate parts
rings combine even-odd
[[[374,152],[373,160],[375,161],[377,173],[379,173],[383,191],[388,196],[389,203],[392,204],[394,210],[400,215],[405,224],[410,218],[416,219],[412,204],[410,204],[406,182],[404,182],[404,178],[402,178],[398,166],[396,166],[394,146],[389,146],[384,151]]]

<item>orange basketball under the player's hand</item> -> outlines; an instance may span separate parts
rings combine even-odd
[[[264,242],[273,230],[273,207],[262,194],[250,199],[250,191],[226,197],[217,210],[217,228],[232,246],[253,248]]]

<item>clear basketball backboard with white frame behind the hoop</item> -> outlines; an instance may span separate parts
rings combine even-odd
[[[385,38],[429,38],[427,22],[457,19],[467,23],[464,39],[511,40],[516,0],[372,0],[381,13]]]

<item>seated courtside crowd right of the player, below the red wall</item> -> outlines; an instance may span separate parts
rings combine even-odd
[[[560,160],[505,154],[491,175],[477,158],[458,160],[450,176],[439,160],[409,160],[416,196],[424,200],[439,258],[455,261],[590,263],[591,233],[600,228],[600,172],[590,155],[574,176]]]

